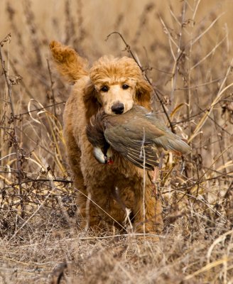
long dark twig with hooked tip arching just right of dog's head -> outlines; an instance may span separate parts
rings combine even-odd
[[[124,44],[126,45],[126,50],[128,51],[128,53],[130,53],[131,57],[134,59],[134,61],[136,62],[137,65],[139,65],[139,68],[141,69],[141,72],[143,72],[143,68],[141,67],[141,65],[139,64],[138,60],[136,59],[136,56],[134,55],[134,53],[131,51],[131,47],[128,43],[126,43],[126,40],[124,39],[123,35],[121,35],[121,33],[119,33],[118,31],[114,31],[112,33],[109,33],[109,35],[107,35],[106,40],[109,39],[109,37],[113,34],[119,35],[121,40],[124,41]],[[145,72],[143,72],[144,77],[146,78],[146,81],[152,86],[151,81],[148,79],[147,75],[145,74]],[[153,86],[152,86],[153,87]],[[156,97],[158,98],[158,101],[161,104],[161,107],[163,108],[164,114],[166,114],[166,118],[168,119],[168,123],[170,125],[170,129],[171,131],[173,131],[173,133],[175,133],[175,129],[173,127],[173,124],[170,121],[170,117],[168,115],[168,112],[166,111],[166,107],[163,104],[163,101],[160,97],[160,95],[158,94],[158,92],[156,91],[156,89],[153,87],[153,92],[154,94],[156,94]]]

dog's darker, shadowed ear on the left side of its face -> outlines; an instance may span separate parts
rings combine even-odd
[[[94,89],[94,84],[90,81],[85,87],[85,96],[83,98],[86,111],[86,119],[90,120],[92,115],[96,114],[101,104],[97,98],[97,91]]]

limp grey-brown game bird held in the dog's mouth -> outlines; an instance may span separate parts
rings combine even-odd
[[[139,168],[154,170],[164,151],[183,155],[191,147],[145,107],[134,105],[124,114],[109,115],[100,109],[86,127],[87,138],[99,163],[112,165],[113,152]]]

